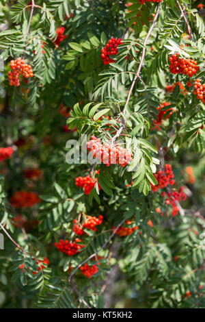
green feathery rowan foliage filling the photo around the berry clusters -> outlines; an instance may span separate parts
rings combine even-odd
[[[10,236],[0,250],[0,306],[102,308],[104,283],[118,267],[112,286],[120,302],[111,306],[204,308],[205,114],[193,93],[194,80],[204,83],[205,75],[198,3],[179,1],[191,27],[186,34],[174,0],[34,2],[33,8],[26,0],[0,4],[0,138],[1,147],[14,151],[0,160],[1,232]],[[104,65],[100,53],[111,37],[122,43]],[[170,73],[168,58],[176,52],[197,61],[196,75]],[[9,86],[9,63],[18,57],[34,76]],[[68,151],[66,141],[82,143],[81,134],[126,147],[133,161],[68,164],[66,153],[77,150]],[[172,164],[175,184],[153,192],[154,174],[165,163]],[[190,165],[195,184],[185,170]],[[28,168],[42,174],[26,177]],[[89,195],[75,184],[87,175],[97,180]],[[180,186],[187,199],[174,203],[174,216],[165,199]],[[35,191],[41,201],[16,208],[10,204],[16,191]],[[74,233],[74,220],[81,227],[99,215],[96,230]],[[118,236],[122,221],[137,229]],[[59,240],[83,247],[68,256],[57,250]],[[92,278],[82,274],[83,262],[98,267]]]

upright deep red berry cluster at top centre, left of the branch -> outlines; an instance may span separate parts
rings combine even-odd
[[[115,62],[115,60],[111,59],[111,55],[116,55],[118,53],[118,45],[122,45],[122,39],[115,39],[112,37],[108,40],[105,47],[101,50],[101,58],[102,62],[107,65],[110,62]]]

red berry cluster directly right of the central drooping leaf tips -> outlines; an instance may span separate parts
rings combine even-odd
[[[164,172],[162,170],[154,173],[154,177],[156,178],[158,184],[156,186],[152,186],[152,191],[155,192],[158,189],[165,188],[166,186],[174,184],[174,173],[172,172],[171,164],[165,164]]]

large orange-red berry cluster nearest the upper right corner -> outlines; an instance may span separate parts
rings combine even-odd
[[[200,69],[200,67],[197,66],[197,62],[195,60],[191,60],[190,58],[179,58],[178,55],[178,53],[175,53],[169,57],[170,72],[173,74],[188,75],[189,77],[195,75],[195,73]]]

